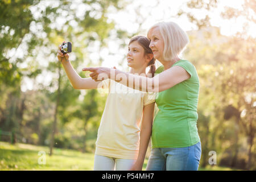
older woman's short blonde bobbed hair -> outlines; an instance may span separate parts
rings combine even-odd
[[[174,22],[159,22],[150,28],[159,28],[164,41],[163,59],[172,60],[180,55],[189,43],[188,35]],[[148,32],[150,32],[148,30]],[[148,34],[147,32],[147,34]]]

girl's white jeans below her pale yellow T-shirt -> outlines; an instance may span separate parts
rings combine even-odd
[[[102,155],[94,156],[94,171],[128,171],[136,160],[117,159]]]

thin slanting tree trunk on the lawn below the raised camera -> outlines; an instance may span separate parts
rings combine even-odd
[[[51,144],[50,144],[50,156],[52,155],[52,150],[53,150],[53,146],[54,146],[54,136],[56,133],[56,129],[57,129],[57,109],[59,106],[59,102],[60,102],[60,61],[59,61],[59,80],[58,80],[58,89],[57,89],[57,99],[56,99],[56,106],[55,106],[55,114],[54,114],[54,121],[53,121],[53,131],[52,131],[52,137],[51,137]]]

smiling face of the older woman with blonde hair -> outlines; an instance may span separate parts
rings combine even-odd
[[[160,34],[159,28],[152,28],[148,32],[148,39],[150,39],[150,48],[154,53],[154,58],[159,61],[164,61],[163,59],[163,51],[164,51],[164,41]]]

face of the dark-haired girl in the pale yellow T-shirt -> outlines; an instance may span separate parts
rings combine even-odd
[[[142,68],[147,66],[147,59],[144,56],[144,48],[135,40],[128,46],[127,65],[131,68]]]

